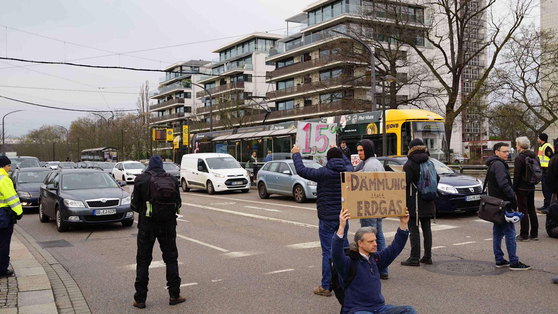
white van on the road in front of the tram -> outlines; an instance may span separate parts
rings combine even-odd
[[[187,154],[180,163],[180,185],[184,192],[205,189],[208,194],[229,190],[246,193],[250,191],[250,177],[229,154]]]

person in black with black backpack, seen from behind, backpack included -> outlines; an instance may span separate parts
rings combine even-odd
[[[165,172],[159,155],[151,156],[145,172],[136,177],[132,191],[131,207],[139,214],[134,307],[146,307],[149,265],[153,259],[155,239],[159,242],[166,264],[169,305],[186,301],[180,295],[176,248],[176,214],[180,213],[181,204],[178,180]]]

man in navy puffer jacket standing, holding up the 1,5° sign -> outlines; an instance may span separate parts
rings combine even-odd
[[[292,160],[295,164],[296,173],[300,177],[314,181],[316,187],[316,209],[318,210],[319,229],[321,244],[321,286],[314,288],[314,293],[320,296],[331,296],[329,279],[331,270],[329,258],[331,254],[331,237],[339,227],[339,213],[341,212],[341,172],[353,172],[353,165],[347,156],[341,153],[336,145],[330,145],[328,150],[328,164],[325,167],[308,168],[304,166],[300,156],[300,145],[293,145],[291,150]],[[349,246],[347,231],[349,224],[345,226],[345,246]]]

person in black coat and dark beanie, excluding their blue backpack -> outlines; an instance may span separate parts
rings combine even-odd
[[[430,218],[434,217],[434,201],[427,201],[422,199],[420,195],[416,195],[416,186],[420,179],[420,164],[428,161],[427,148],[421,139],[414,139],[409,143],[407,158],[407,162],[403,165],[403,171],[405,172],[407,182],[407,211],[411,216],[408,222],[411,256],[407,260],[401,261],[401,265],[420,266],[420,263],[432,264]],[[436,177],[437,181],[440,182],[440,176],[436,174]],[[419,202],[418,204],[416,204],[417,201]],[[418,214],[415,210],[416,207],[419,208]],[[419,217],[422,236],[424,237],[424,255],[420,260],[420,232],[419,226],[416,223],[417,216]]]

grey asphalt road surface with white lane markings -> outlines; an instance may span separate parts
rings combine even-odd
[[[18,224],[37,241],[65,240],[57,244],[68,246],[47,250],[79,284],[93,313],[339,313],[335,297],[312,293],[321,280],[315,201],[297,204],[278,196],[263,200],[252,190],[215,196],[193,191],[182,193],[182,202],[176,241],[186,302],[176,306],[168,305],[161,262],[150,269],[147,309],[132,307],[135,223],[59,233],[54,222],[41,223],[32,212]],[[550,279],[558,274],[558,239],[546,235],[545,216],[538,218],[540,241],[517,243],[519,259],[532,270],[465,276],[403,267],[398,261],[408,258],[407,242],[389,267],[389,280],[382,281],[386,302],[413,305],[419,313],[556,312],[558,285]],[[384,220],[388,242],[398,225],[397,219]],[[358,220],[350,221],[350,232],[358,227]],[[476,213],[439,215],[432,230],[434,261],[493,263],[492,240],[487,240],[492,224],[479,221]],[[156,244],[153,261],[161,260]]]

